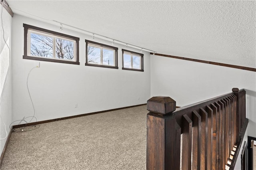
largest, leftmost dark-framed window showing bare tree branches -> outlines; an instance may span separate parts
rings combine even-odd
[[[79,38],[23,24],[23,59],[79,65]]]

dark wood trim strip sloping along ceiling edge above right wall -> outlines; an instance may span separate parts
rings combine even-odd
[[[205,60],[200,60],[200,59],[178,57],[178,56],[166,55],[166,54],[158,54],[158,53],[155,53],[155,54],[154,53],[150,53],[150,54],[152,54],[152,55],[159,55],[159,56],[163,56],[163,57],[176,58],[176,59],[184,59],[184,60],[188,60],[188,61],[195,61],[195,62],[199,62],[199,63],[220,65],[220,66],[224,66],[224,67],[231,67],[231,68],[235,68],[235,69],[242,69],[242,70],[248,70],[248,71],[255,71],[256,72],[256,68],[252,68],[252,67],[244,67],[244,66],[240,66],[240,65],[231,65],[231,64],[225,64],[225,63],[217,63],[217,62],[213,62],[213,61],[205,61]]]

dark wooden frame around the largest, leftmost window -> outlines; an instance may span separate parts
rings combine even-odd
[[[28,24],[23,24],[24,27],[24,55],[23,55],[23,59],[32,59],[32,60],[38,60],[38,61],[50,61],[50,62],[56,62],[56,63],[67,63],[67,64],[76,64],[76,65],[80,65],[79,63],[79,38],[74,37],[74,36],[69,36],[66,34],[62,34],[59,32],[54,32],[51,30],[46,30],[44,28],[39,28],[36,26],[30,26]],[[30,56],[28,55],[28,30],[35,30],[38,32],[43,32],[46,34],[52,34],[53,36],[60,36],[63,38],[67,38],[67,39],[71,39],[74,40],[76,42],[76,61],[68,61],[68,60],[61,60],[61,59],[52,59],[52,58],[44,58],[44,57],[34,57],[34,56]]]

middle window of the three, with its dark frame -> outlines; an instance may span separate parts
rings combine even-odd
[[[117,47],[85,40],[86,63],[85,65],[118,69]]]

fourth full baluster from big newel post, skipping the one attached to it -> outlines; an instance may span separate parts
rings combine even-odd
[[[207,169],[212,169],[212,119],[213,119],[213,110],[210,106],[206,106],[206,112],[208,113],[208,132],[207,132]]]

